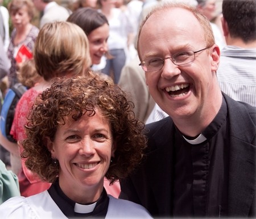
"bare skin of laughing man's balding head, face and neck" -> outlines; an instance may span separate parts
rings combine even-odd
[[[179,8],[151,15],[142,27],[138,41],[141,61],[170,57],[178,51],[197,51],[207,46],[210,45],[206,44],[203,29],[195,16]],[[214,44],[195,56],[192,63],[177,66],[167,59],[159,71],[145,72],[151,96],[172,117],[177,128],[191,137],[209,125],[222,102],[216,78],[220,49]],[[176,85],[187,88],[167,92]]]

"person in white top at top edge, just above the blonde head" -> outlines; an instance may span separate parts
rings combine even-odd
[[[55,20],[65,21],[70,15],[68,9],[58,5],[52,0],[34,0],[34,5],[37,10],[43,12],[43,16],[40,19],[40,28],[42,28],[44,24]]]

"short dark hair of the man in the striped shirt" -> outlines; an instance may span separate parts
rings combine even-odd
[[[245,43],[256,40],[255,0],[223,0],[222,14],[230,36],[241,38]]]

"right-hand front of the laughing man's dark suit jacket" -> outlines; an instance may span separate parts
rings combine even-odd
[[[249,215],[255,199],[255,121],[243,106],[226,98],[230,118],[229,216]],[[255,114],[255,111],[254,111]],[[241,127],[241,124],[245,126]]]

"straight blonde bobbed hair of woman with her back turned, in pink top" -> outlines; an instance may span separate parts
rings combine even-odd
[[[85,73],[91,65],[88,38],[74,23],[47,23],[36,39],[34,60],[36,71],[46,81]]]

